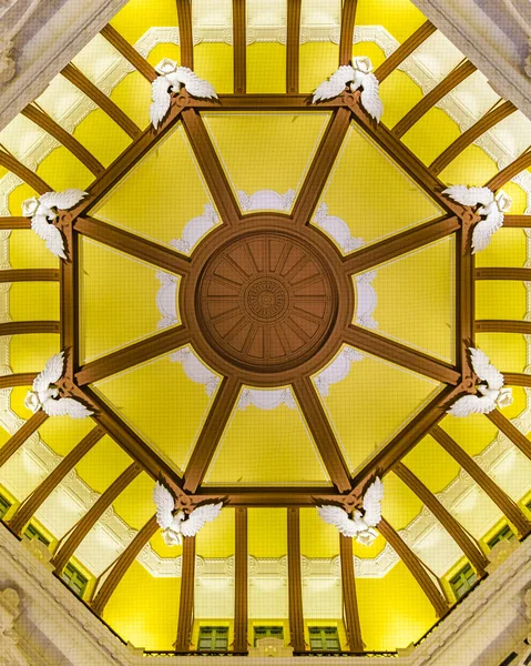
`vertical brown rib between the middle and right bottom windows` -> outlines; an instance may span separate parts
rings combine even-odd
[[[294,652],[305,652],[303,615],[303,575],[300,571],[300,513],[298,507],[287,509],[287,583],[289,635]]]

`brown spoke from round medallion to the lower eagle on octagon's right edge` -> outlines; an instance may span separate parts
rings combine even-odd
[[[350,346],[375,354],[437,382],[456,385],[460,380],[460,374],[450,365],[421,352],[416,352],[404,344],[387,340],[374,331],[350,324],[345,332],[344,340]]]

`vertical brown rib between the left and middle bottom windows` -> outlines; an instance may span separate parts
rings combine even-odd
[[[247,507],[237,506],[234,513],[234,652],[247,652]]]

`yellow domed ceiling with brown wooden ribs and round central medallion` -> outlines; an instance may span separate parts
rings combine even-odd
[[[357,57],[380,122],[366,88],[313,102]],[[184,87],[154,129],[164,58],[218,97]],[[407,0],[130,0],[0,132],[3,522],[147,650],[198,649],[206,625],[234,652],[258,625],[295,652],[310,626],[350,653],[418,642],[493,536],[531,531],[530,147]],[[484,215],[450,185],[509,198],[476,254]],[[88,194],[53,222],[62,260],[21,211],[67,189]],[[458,418],[469,347],[514,400]],[[61,350],[91,417],[24,404]],[[187,512],[224,503],[183,547],[161,475]],[[340,537],[316,506],[359,508],[376,476],[378,537]]]

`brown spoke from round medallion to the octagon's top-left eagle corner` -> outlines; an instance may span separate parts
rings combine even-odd
[[[225,224],[236,223],[239,218],[238,205],[216,151],[212,145],[208,132],[203,124],[203,120],[194,109],[184,110],[182,112],[182,120],[188,141],[223,222]]]

